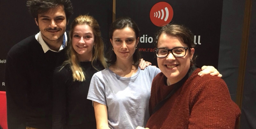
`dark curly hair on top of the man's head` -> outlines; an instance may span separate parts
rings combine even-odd
[[[63,5],[67,20],[73,14],[73,7],[70,0],[28,0],[27,7],[32,17],[38,19],[38,14],[47,12],[50,8]]]

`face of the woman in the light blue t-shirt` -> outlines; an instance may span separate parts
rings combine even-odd
[[[133,62],[133,54],[138,45],[139,38],[136,39],[135,32],[130,27],[116,29],[110,39],[114,52],[118,60],[130,60]]]

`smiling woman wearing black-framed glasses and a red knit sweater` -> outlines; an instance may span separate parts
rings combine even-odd
[[[192,63],[193,37],[181,25],[159,31],[156,55],[161,73],[152,82],[147,128],[235,128],[241,111],[221,78],[198,76],[201,70]]]

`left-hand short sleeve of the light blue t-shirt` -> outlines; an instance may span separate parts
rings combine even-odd
[[[102,73],[97,73],[91,78],[87,99],[106,105],[105,85]]]

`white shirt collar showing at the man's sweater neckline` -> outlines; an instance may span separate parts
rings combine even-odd
[[[67,46],[67,42],[68,42],[67,39],[68,39],[68,37],[67,37],[66,32],[64,33],[64,36],[65,36],[65,39],[66,39],[65,45]],[[44,42],[44,40],[43,40],[43,38],[42,38],[41,32],[39,32],[39,33],[37,33],[37,34],[35,35],[35,39],[41,44],[41,46],[42,46],[42,48],[43,48],[43,50],[44,50],[44,53],[46,53],[48,50],[51,50],[51,49],[49,48],[49,46]],[[64,48],[65,48],[65,47],[64,47]],[[62,49],[64,49],[64,48],[63,48],[62,45],[61,45],[58,51],[54,51],[54,50],[51,50],[51,51],[53,51],[53,52],[60,52],[60,51],[61,51]]]

